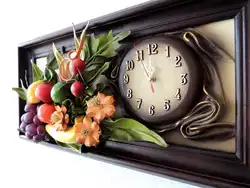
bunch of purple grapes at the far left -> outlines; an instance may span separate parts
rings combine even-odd
[[[36,142],[45,139],[45,127],[37,117],[38,105],[26,104],[24,107],[25,114],[21,117],[21,125],[19,130],[26,135],[28,139]]]

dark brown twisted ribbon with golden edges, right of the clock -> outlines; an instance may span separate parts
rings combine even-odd
[[[235,125],[233,123],[216,122],[221,115],[221,104],[225,104],[222,85],[213,62],[213,57],[211,57],[209,52],[203,48],[200,44],[200,40],[196,36],[203,40],[203,42],[207,45],[210,45],[210,48],[215,48],[215,45],[195,31],[188,30],[183,32],[171,33],[169,35],[178,34],[181,36],[181,38],[193,50],[195,50],[202,59],[203,68],[205,70],[205,81],[203,84],[203,93],[205,98],[196,104],[187,116],[173,124],[164,126],[164,128],[156,129],[156,131],[162,133],[180,127],[182,136],[188,139],[204,139],[222,136],[223,138],[233,137],[235,135]],[[188,38],[188,36],[191,38]],[[212,50],[214,53],[218,53],[216,52],[217,49]],[[222,95],[221,101],[213,97],[210,92],[208,92],[208,86],[212,84],[210,83],[212,78],[219,84],[220,93]]]

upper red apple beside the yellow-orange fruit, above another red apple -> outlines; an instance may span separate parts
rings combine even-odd
[[[35,90],[35,96],[37,99],[40,101],[43,101],[45,103],[50,103],[52,102],[50,92],[52,89],[52,85],[50,83],[42,83],[39,86],[37,86]]]

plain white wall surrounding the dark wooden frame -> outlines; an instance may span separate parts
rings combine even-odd
[[[17,46],[145,0],[8,0],[0,5],[0,187],[196,187],[20,139]]]

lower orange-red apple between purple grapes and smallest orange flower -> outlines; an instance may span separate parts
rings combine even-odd
[[[42,104],[38,108],[37,117],[40,121],[44,123],[51,123],[50,116],[55,111],[56,111],[56,108],[53,104]]]

